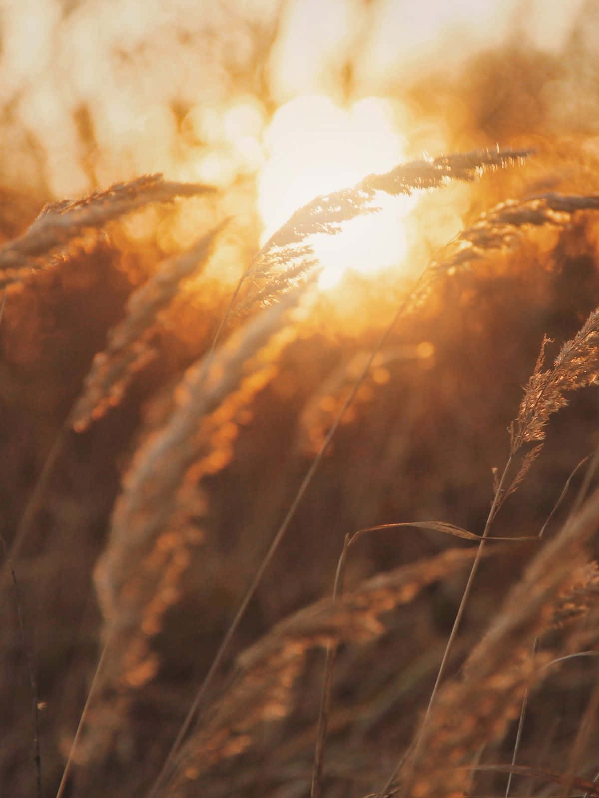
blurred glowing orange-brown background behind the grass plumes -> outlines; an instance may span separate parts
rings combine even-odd
[[[157,678],[132,691],[116,732],[89,721],[91,742],[69,784],[73,796],[143,795],[331,423],[344,375],[355,373],[353,358],[378,339],[406,287],[503,200],[597,192],[599,0],[0,0],[0,142],[2,242],[44,203],[148,172],[215,189],[137,211],[9,290],[0,326],[0,516],[9,542],[130,292],[165,257],[232,218],[200,279],[161,317],[157,359],[119,407],[63,441],[18,563],[45,702],[49,796],[101,648],[92,574],[121,476],[172,409],[173,385],[205,352],[252,256],[298,207],[371,172],[444,152],[534,148],[525,164],[476,184],[381,196],[381,213],[315,243],[325,267],[319,301],[239,425],[231,462],[202,485],[203,543],[153,639]],[[409,519],[482,531],[491,468],[505,462],[506,427],[542,335],[557,350],[599,304],[598,243],[592,214],[527,228],[397,327],[265,575],[227,674],[280,618],[330,594],[347,531]],[[557,417],[541,460],[498,518],[498,535],[538,531],[597,441],[596,417],[593,389]],[[446,543],[422,531],[364,539],[348,581]],[[519,549],[483,566],[454,670],[527,556]],[[462,587],[459,577],[430,587],[382,640],[343,650],[327,795],[363,796],[386,780],[430,695]],[[6,795],[33,796],[30,686],[9,595],[0,783]],[[308,795],[322,664],[320,655],[307,663],[288,716],[177,794]],[[565,767],[595,678],[592,664],[576,661],[531,698],[524,760],[545,751],[545,761]],[[510,756],[511,741],[489,753]],[[491,776],[480,784],[497,788]]]

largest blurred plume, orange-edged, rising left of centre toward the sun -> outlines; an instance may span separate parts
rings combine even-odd
[[[177,388],[177,409],[134,456],[94,574],[105,654],[79,756],[105,755],[123,733],[131,691],[157,672],[152,638],[178,600],[189,548],[203,536],[201,480],[231,459],[236,418],[276,373],[294,335],[287,311],[299,298],[290,294],[232,335],[212,361],[192,365]]]

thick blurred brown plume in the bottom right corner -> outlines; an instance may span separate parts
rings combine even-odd
[[[511,591],[489,632],[466,661],[463,681],[439,690],[423,732],[419,758],[408,763],[407,796],[461,795],[468,764],[481,745],[498,741],[515,717],[527,688],[538,684],[552,658],[530,651],[534,638],[553,623],[573,586],[573,571],[585,566],[583,547],[597,528],[599,492],[569,519],[536,555]],[[397,792],[395,788],[394,792]]]

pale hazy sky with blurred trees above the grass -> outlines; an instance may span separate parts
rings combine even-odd
[[[2,184],[45,200],[145,172],[205,182],[223,194],[220,213],[240,220],[233,258],[236,237],[264,241],[313,196],[406,158],[555,144],[596,126],[593,0],[0,8]],[[424,240],[395,224],[392,246],[387,235],[370,260],[396,265],[416,242],[422,260],[460,229],[468,197],[437,199]],[[395,203],[394,221],[414,204]],[[214,215],[201,200],[160,227],[149,211],[129,234],[156,234],[169,252]]]

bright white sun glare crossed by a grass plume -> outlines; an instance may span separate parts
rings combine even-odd
[[[342,109],[328,97],[296,97],[272,117],[264,136],[267,159],[258,177],[262,243],[315,196],[347,188],[372,172],[405,160],[389,101],[367,97]],[[316,235],[312,244],[323,272],[322,288],[348,269],[374,275],[407,255],[405,219],[414,196],[375,198],[378,214],[347,222],[339,235]]]

